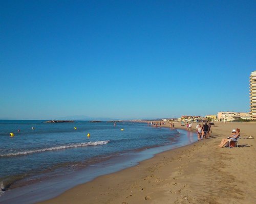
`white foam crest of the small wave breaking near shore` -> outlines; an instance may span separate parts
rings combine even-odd
[[[0,157],[13,157],[13,156],[29,155],[37,152],[42,152],[42,151],[55,151],[55,150],[61,150],[61,149],[67,149],[67,148],[103,145],[103,144],[108,144],[109,142],[110,140],[105,140],[105,141],[102,140],[102,141],[96,141],[96,142],[81,142],[81,143],[70,144],[70,145],[62,145],[62,146],[55,146],[55,147],[42,148],[42,149],[33,149],[28,151],[18,151],[18,152],[0,155]]]

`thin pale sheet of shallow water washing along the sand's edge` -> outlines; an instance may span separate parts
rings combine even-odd
[[[166,127],[163,127],[163,128],[166,129]],[[167,132],[169,131],[167,130]],[[56,177],[56,178],[53,178],[53,180],[51,181],[46,180],[46,181],[41,181],[41,183],[35,183],[29,186],[21,187],[22,189],[20,188],[12,189],[12,191],[6,192],[7,194],[3,196],[2,201],[3,203],[8,203],[9,201],[12,201],[13,203],[18,203],[18,200],[19,200],[19,202],[22,201],[22,203],[27,203],[27,202],[34,203],[34,202],[50,199],[51,197],[53,198],[59,195],[60,193],[65,192],[79,184],[90,182],[98,176],[113,173],[113,172],[118,172],[125,168],[130,168],[131,166],[136,166],[139,162],[150,159],[154,157],[156,154],[159,154],[159,152],[177,148],[177,146],[183,146],[184,144],[185,145],[189,144],[191,140],[193,142],[196,141],[195,135],[193,136],[193,138],[191,138],[191,140],[187,140],[185,131],[180,130],[179,132],[182,133],[180,136],[181,138],[178,142],[175,142],[173,144],[172,142],[170,142],[169,144],[164,146],[146,148],[142,151],[135,151],[130,153],[127,152],[127,154],[124,154],[122,156],[120,155],[118,157],[112,158],[111,160],[107,160],[105,162],[101,162],[96,165],[93,165],[92,167],[75,171],[70,175],[67,174],[66,177],[60,176],[59,179]],[[176,133],[178,134],[178,132]],[[115,163],[115,161],[117,162]],[[100,166],[104,167],[103,168],[104,171],[103,169],[101,169],[102,167]],[[110,167],[108,168],[106,166],[110,166]],[[95,169],[95,171],[93,171],[93,169]],[[97,173],[97,171],[99,173]],[[74,182],[72,182],[72,180],[74,180]],[[33,190],[33,189],[36,189],[36,190]],[[24,192],[24,194],[20,194],[19,192]],[[41,196],[38,196],[38,195],[41,195]]]

